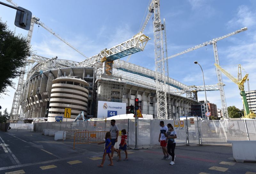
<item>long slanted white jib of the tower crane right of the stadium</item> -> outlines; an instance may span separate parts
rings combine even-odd
[[[204,47],[204,46],[206,46],[206,45],[211,45],[211,44],[213,44],[213,42],[217,42],[217,41],[219,41],[219,40],[225,39],[225,38],[227,38],[227,37],[229,37],[229,36],[232,36],[232,35],[234,35],[234,34],[236,34],[236,33],[243,32],[243,31],[245,31],[245,30],[247,30],[247,27],[241,28],[240,30],[236,30],[235,32],[226,34],[226,35],[224,35],[224,36],[221,36],[221,37],[218,37],[218,38],[209,40],[209,41],[204,42],[204,43],[202,43],[202,44],[196,45],[195,47],[188,48],[188,49],[186,49],[185,51],[182,51],[182,52],[180,52],[180,53],[177,53],[177,54],[174,54],[174,55],[169,56],[168,59],[171,59],[171,58],[176,57],[176,56],[181,55],[181,54],[188,53],[189,51],[193,51],[193,50],[195,50],[195,49],[197,49],[197,48],[201,48],[201,47]]]

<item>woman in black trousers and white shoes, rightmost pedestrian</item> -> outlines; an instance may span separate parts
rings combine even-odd
[[[176,146],[176,142],[175,142],[175,138],[177,138],[177,133],[176,131],[173,129],[172,124],[167,124],[168,127],[168,132],[165,134],[166,141],[167,141],[167,152],[168,154],[170,154],[172,156],[172,161],[170,163],[170,165],[174,164],[174,160],[175,160],[175,154],[174,154],[174,149]]]

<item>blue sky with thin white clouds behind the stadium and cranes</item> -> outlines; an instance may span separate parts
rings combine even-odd
[[[3,2],[8,4],[7,1]],[[137,34],[148,5],[148,0],[16,0],[14,2],[30,10],[33,15],[40,18],[40,21],[88,57]],[[163,18],[166,21],[169,56],[245,26],[248,27],[245,32],[220,40],[217,42],[217,47],[220,65],[227,66],[223,68],[236,77],[237,64],[241,64],[249,73],[250,89],[256,90],[256,1],[161,0],[160,13],[162,22]],[[0,5],[0,17],[2,21],[7,21],[11,30],[15,29],[15,14],[16,10]],[[154,70],[152,22],[151,18],[144,31],[144,34],[152,39],[145,50],[133,54],[129,62]],[[27,35],[28,32],[16,28],[16,33]],[[77,62],[84,60],[84,57],[38,25],[34,27],[31,45],[36,54],[48,58],[58,56],[59,59]],[[126,60],[126,57],[123,59]],[[218,83],[213,65],[212,45],[170,59],[170,77],[187,85],[203,85],[201,69],[194,64],[194,61],[201,64],[206,85]],[[222,78],[226,84],[224,90],[227,106],[235,105],[242,109],[238,87],[225,75],[222,75]],[[10,111],[15,89],[8,88],[8,90],[9,96],[3,96],[0,105]],[[204,92],[199,92],[198,98],[204,99]],[[221,108],[219,91],[208,91],[207,99]]]

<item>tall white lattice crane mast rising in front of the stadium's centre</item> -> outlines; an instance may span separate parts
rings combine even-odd
[[[167,120],[167,101],[165,89],[165,65],[164,65],[164,50],[163,50],[163,33],[160,18],[159,0],[154,0],[154,43],[155,43],[155,66],[156,66],[156,104],[157,104],[157,119]],[[164,80],[162,80],[164,79]]]

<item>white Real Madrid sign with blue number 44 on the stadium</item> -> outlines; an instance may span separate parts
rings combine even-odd
[[[98,118],[126,114],[126,103],[98,101]]]

